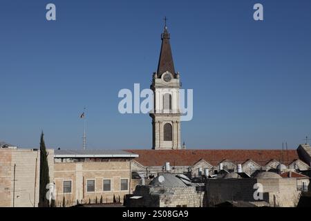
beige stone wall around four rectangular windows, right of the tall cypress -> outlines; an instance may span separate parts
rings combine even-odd
[[[123,202],[124,195],[131,193],[131,171],[130,162],[70,162],[55,163],[55,186],[57,191],[57,206],[62,206],[65,198],[66,206],[77,203],[113,202],[120,197]],[[128,179],[128,189],[121,191],[120,180]],[[65,180],[72,182],[71,193],[63,193],[63,183]],[[95,180],[95,191],[88,192],[86,188],[87,180]],[[104,191],[103,180],[111,180],[111,191]]]

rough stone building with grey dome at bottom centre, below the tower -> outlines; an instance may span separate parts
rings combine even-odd
[[[160,173],[149,185],[138,185],[131,195],[126,195],[129,207],[201,207],[205,189],[191,183],[187,177]]]

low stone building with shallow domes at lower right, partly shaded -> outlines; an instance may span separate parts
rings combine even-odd
[[[254,186],[258,184],[261,184],[262,190]],[[254,198],[257,190],[263,193],[263,198]],[[208,206],[236,201],[261,206],[294,207],[301,194],[297,189],[296,178],[283,178],[273,172],[258,173],[254,178],[208,179],[206,191]]]

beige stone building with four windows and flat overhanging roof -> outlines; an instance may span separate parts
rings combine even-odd
[[[131,193],[131,160],[126,151],[55,151],[54,180],[57,206],[79,203],[123,202]]]

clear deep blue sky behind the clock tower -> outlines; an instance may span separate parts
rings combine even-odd
[[[46,21],[55,3],[57,21]],[[262,3],[264,21],[254,21]],[[149,88],[168,17],[175,68],[194,89],[187,148],[296,148],[311,137],[311,1],[0,3],[0,140],[151,148],[149,115],[121,115],[122,88]]]

